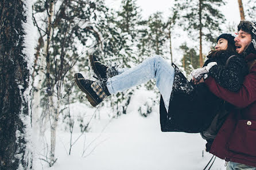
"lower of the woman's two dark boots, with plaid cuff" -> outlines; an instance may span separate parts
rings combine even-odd
[[[91,81],[85,79],[82,74],[74,75],[78,87],[86,93],[86,98],[92,106],[100,104],[110,93],[107,90],[106,81]]]

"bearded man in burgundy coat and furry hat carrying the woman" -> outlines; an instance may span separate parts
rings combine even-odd
[[[239,92],[222,88],[210,76],[204,80],[212,93],[235,106],[210,152],[226,160],[228,170],[256,170],[256,22],[241,21],[234,40],[236,52],[245,56],[250,72]]]

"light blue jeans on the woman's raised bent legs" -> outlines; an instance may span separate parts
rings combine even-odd
[[[168,111],[174,80],[174,68],[164,58],[161,56],[149,57],[134,68],[123,71],[118,70],[118,73],[121,74],[108,78],[107,80],[107,89],[110,94],[123,92],[154,78],[156,80],[156,86],[164,100],[165,108]]]

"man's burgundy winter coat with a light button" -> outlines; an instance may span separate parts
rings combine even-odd
[[[255,59],[255,54],[246,57],[248,62]],[[212,77],[205,84],[216,96],[236,106],[215,137],[210,152],[226,161],[256,167],[256,64],[239,92],[222,88]]]

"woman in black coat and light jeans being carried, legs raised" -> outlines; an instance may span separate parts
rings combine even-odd
[[[210,52],[204,67],[193,71],[194,80],[210,74],[224,88],[235,91],[243,82],[248,69],[240,56],[228,58],[235,53],[234,37],[222,34],[218,37],[216,50]],[[226,61],[228,65],[226,66]],[[211,124],[223,102],[212,94],[205,84],[195,85],[189,82],[173,64],[170,66],[160,56],[150,57],[134,68],[119,73],[109,69],[94,56],[90,57],[92,70],[100,81],[86,80],[82,74],[75,74],[75,81],[87,94],[92,106],[98,105],[110,94],[122,92],[132,86],[142,84],[155,78],[161,93],[160,122],[164,132],[203,132]],[[113,77],[108,72],[114,70]],[[230,85],[230,82],[234,84]]]

